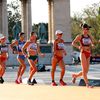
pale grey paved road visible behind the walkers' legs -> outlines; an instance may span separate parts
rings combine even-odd
[[[46,69],[51,69],[51,66],[46,66]],[[4,75],[5,82],[14,82],[16,79],[16,74],[17,74],[18,67],[7,67],[6,68],[6,73]],[[27,69],[23,75],[23,81],[26,81],[28,75],[29,75],[29,66],[27,66]],[[81,65],[66,65],[66,73],[64,80],[67,82],[68,85],[73,85],[72,84],[72,73],[78,72],[81,70]],[[57,70],[55,73],[55,80],[58,83],[59,82],[59,76],[60,76],[60,68],[57,66]],[[38,81],[38,84],[50,84],[51,83],[51,75],[50,71],[47,72],[37,72],[34,77]],[[88,73],[88,77],[91,79],[99,79],[100,78],[100,64],[94,64],[90,65],[90,71]],[[76,84],[78,85],[80,81],[80,78],[77,79]]]

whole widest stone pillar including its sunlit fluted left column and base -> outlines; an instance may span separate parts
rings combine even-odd
[[[49,4],[49,40],[54,41],[55,31],[62,30],[66,45],[67,56],[65,62],[71,63],[71,23],[70,23],[70,0],[48,0]]]

